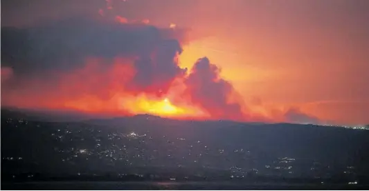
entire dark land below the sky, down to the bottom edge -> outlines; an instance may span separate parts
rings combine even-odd
[[[368,150],[363,129],[1,110],[3,190],[361,190]]]

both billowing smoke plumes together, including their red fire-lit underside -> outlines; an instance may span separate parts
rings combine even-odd
[[[1,28],[1,104],[136,114],[147,111],[140,108],[150,100],[170,97],[179,108],[163,103],[165,112],[270,121],[251,114],[208,58],[190,71],[179,66],[188,30],[147,23],[79,17]],[[291,110],[286,117],[303,113]]]

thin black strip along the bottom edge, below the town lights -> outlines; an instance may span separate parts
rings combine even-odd
[[[1,190],[368,190],[368,185],[231,182],[57,181],[1,183]]]

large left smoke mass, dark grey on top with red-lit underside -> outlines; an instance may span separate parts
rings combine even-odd
[[[187,34],[101,17],[1,28],[2,105],[136,112],[135,97],[163,99],[186,76]]]

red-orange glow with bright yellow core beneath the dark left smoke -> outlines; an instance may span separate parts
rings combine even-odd
[[[173,84],[160,96],[155,92],[125,90],[125,83],[135,74],[132,61],[116,58],[113,62],[106,65],[102,59],[87,59],[84,68],[58,73],[61,79],[58,86],[42,79],[27,81],[22,90],[4,94],[3,101],[19,108],[69,109],[114,115],[155,114],[181,119],[210,117],[181,94],[180,85]],[[22,99],[24,94],[28,95],[27,99]]]

